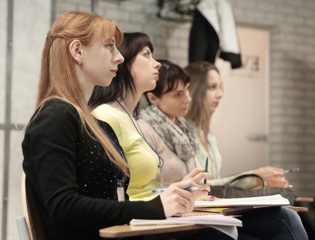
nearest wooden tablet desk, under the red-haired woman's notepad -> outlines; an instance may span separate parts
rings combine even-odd
[[[196,225],[196,224],[148,225],[148,226],[117,225],[117,226],[106,227],[106,228],[100,229],[99,233],[101,237],[114,238],[114,237],[182,232],[182,231],[188,231],[188,230],[191,231],[191,230],[204,229],[207,227],[208,226],[206,225]]]

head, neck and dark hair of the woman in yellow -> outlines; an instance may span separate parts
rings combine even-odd
[[[104,103],[115,102],[115,100],[120,99],[121,102],[136,103],[133,108],[137,110],[140,99],[139,96],[141,96],[142,93],[140,93],[140,90],[136,91],[138,83],[136,78],[134,79],[132,75],[135,72],[139,75],[146,69],[143,66],[143,69],[138,70],[138,68],[142,68],[141,64],[145,64],[144,62],[139,62],[140,64],[137,65],[133,65],[133,62],[135,61],[137,55],[140,54],[140,51],[142,51],[141,55],[147,58],[151,57],[151,54],[153,53],[153,45],[146,34],[124,33],[124,41],[119,46],[119,51],[124,53],[123,56],[125,59],[124,64],[120,64],[118,66],[118,71],[116,72],[117,75],[115,79],[119,80],[113,81],[107,88],[96,86],[89,102],[91,107],[96,107]],[[138,58],[141,60],[140,57]],[[151,62],[147,64],[151,64],[151,67],[153,68],[150,69],[152,71],[151,75],[153,78],[151,77],[151,79],[149,79],[150,81],[147,81],[149,86],[145,86],[146,88],[155,87],[155,82],[159,79],[159,72],[157,69],[161,66],[161,64],[155,61],[152,57],[150,60]],[[143,74],[145,74],[145,72]],[[114,105],[116,104],[114,103]],[[133,112],[136,113],[136,111],[131,111],[131,113]]]

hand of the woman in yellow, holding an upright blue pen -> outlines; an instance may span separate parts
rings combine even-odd
[[[198,184],[203,179],[207,179],[209,181],[213,180],[211,174],[204,171],[202,168],[195,168],[193,169],[188,175],[186,175],[182,181],[191,180],[194,183]],[[195,200],[199,199],[200,197],[206,197],[210,192],[210,187],[206,184],[198,184],[200,190],[193,191],[193,195]]]

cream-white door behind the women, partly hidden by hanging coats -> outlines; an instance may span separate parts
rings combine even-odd
[[[269,32],[238,28],[243,67],[218,59],[224,96],[211,131],[222,154],[221,177],[269,165]]]

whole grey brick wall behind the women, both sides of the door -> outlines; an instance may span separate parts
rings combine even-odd
[[[230,0],[238,25],[270,30],[270,164],[300,168],[287,175],[298,195],[315,191],[315,2],[313,0]],[[57,13],[90,6],[84,0],[57,0]],[[190,23],[156,18],[155,0],[99,0],[95,11],[123,31],[142,31],[154,56],[188,63]],[[309,183],[309,184],[305,184]]]

